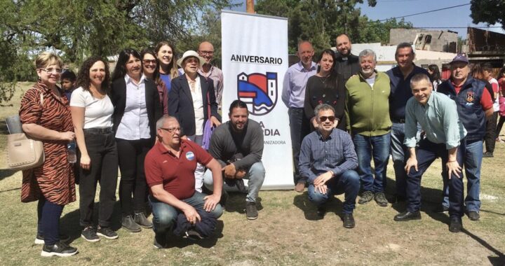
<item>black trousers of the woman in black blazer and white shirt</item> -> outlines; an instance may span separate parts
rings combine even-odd
[[[121,213],[123,216],[141,213],[145,211],[147,205],[144,159],[152,147],[152,141],[151,139],[134,141],[116,139],[116,144],[121,171],[121,181],[119,181]]]

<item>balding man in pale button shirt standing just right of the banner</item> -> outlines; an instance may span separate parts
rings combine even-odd
[[[293,165],[295,166],[295,190],[302,193],[307,179],[300,176],[298,171],[299,149],[302,139],[309,134],[309,120],[304,114],[305,85],[307,80],[316,74],[316,63],[312,62],[314,48],[309,41],[298,43],[299,62],[290,66],[283,81],[282,100],[288,106],[290,120],[291,148]]]

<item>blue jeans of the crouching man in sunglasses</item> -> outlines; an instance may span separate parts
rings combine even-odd
[[[321,194],[319,191],[315,190],[314,184],[310,184],[308,188],[309,200],[316,204],[316,206],[321,206],[321,204],[327,202],[333,195],[345,193],[342,212],[344,214],[352,214],[356,207],[356,197],[358,197],[360,186],[358,173],[354,170],[347,170],[339,176],[334,176],[330,179],[326,183],[326,186],[328,186],[328,191],[326,194]]]

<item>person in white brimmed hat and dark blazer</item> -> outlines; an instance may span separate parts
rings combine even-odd
[[[217,113],[213,80],[206,79],[197,71],[204,59],[195,51],[184,52],[177,60],[184,75],[172,80],[172,89],[168,92],[168,114],[175,116],[181,126],[181,135],[201,145],[203,127],[209,117],[213,125],[220,125],[221,117]]]

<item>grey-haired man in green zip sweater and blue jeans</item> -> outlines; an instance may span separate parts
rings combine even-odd
[[[370,49],[359,54],[361,70],[346,83],[347,130],[353,137],[358,155],[363,194],[359,204],[375,199],[381,207],[387,206],[386,167],[389,161],[391,119],[389,118],[389,77],[375,71],[377,56]],[[372,174],[370,161],[374,160]],[[375,179],[374,179],[375,174]]]

